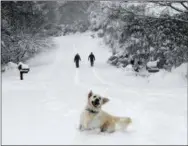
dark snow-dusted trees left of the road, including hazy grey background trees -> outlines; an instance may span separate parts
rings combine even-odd
[[[1,63],[25,61],[52,48],[52,36],[86,31],[90,3],[1,1]]]

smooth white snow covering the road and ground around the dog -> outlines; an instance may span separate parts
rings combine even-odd
[[[2,75],[3,145],[186,144],[187,83],[183,76],[171,75],[167,84],[170,79],[164,72],[149,78],[126,75],[106,63],[109,49],[90,33],[55,41],[57,48],[52,52],[27,62],[31,71],[23,81],[17,70]],[[96,56],[93,68],[88,62],[91,51]],[[79,69],[73,62],[77,52],[82,59]],[[127,131],[78,130],[90,89],[110,99],[105,111],[133,119]]]

